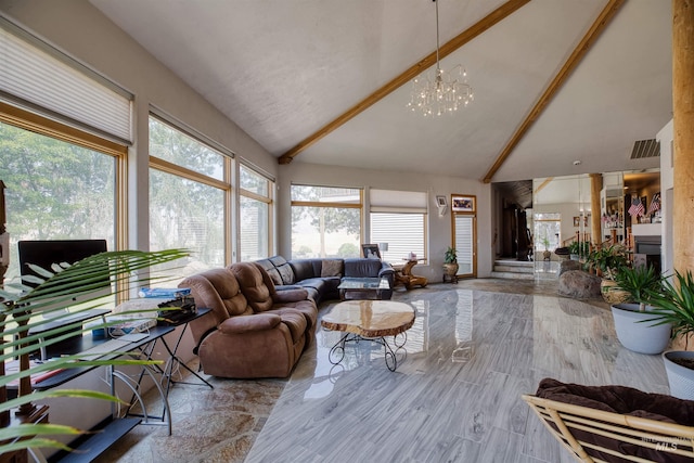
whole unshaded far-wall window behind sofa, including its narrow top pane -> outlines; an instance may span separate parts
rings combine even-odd
[[[359,257],[362,192],[292,185],[292,258]]]

